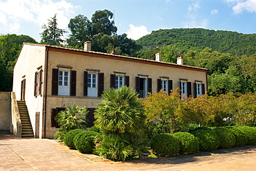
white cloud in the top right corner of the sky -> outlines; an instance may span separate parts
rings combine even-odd
[[[227,3],[235,4],[232,10],[235,14],[239,14],[244,10],[248,12],[256,12],[256,1],[255,0],[226,0]]]

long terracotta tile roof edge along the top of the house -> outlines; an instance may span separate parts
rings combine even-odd
[[[185,65],[179,65],[176,63],[168,63],[168,62],[164,62],[164,61],[154,61],[151,59],[142,59],[142,58],[136,58],[136,57],[127,57],[127,56],[123,56],[123,55],[119,55],[119,54],[109,54],[109,53],[104,53],[104,52],[95,52],[92,50],[80,50],[80,49],[75,49],[75,48],[65,48],[65,47],[61,47],[61,46],[51,46],[51,45],[46,45],[46,44],[37,44],[37,43],[26,43],[24,42],[24,45],[30,45],[30,46],[44,46],[44,47],[49,47],[49,48],[57,48],[57,49],[63,49],[63,50],[72,50],[72,51],[76,51],[76,52],[88,52],[91,54],[100,54],[100,55],[104,55],[104,56],[110,56],[110,57],[119,57],[119,58],[123,58],[123,59],[134,59],[134,60],[139,60],[139,61],[148,61],[151,63],[163,63],[163,64],[167,64],[167,65],[171,65],[171,66],[177,66],[177,67],[181,67],[181,68],[194,68],[194,69],[198,69],[198,70],[204,70],[205,72],[208,71],[208,69],[206,68],[199,68],[196,66],[185,66]]]

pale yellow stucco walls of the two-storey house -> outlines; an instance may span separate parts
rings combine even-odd
[[[76,72],[75,96],[53,95],[54,69],[66,71],[68,77],[71,77],[69,75],[71,70]],[[42,92],[35,95],[37,87],[35,86],[35,72],[40,71],[42,81],[38,83],[42,84],[40,87]],[[33,130],[35,130],[36,123],[35,113],[39,112],[39,138],[53,138],[56,132],[57,128],[51,126],[53,108],[65,108],[70,104],[97,108],[100,97],[84,95],[84,72],[104,73],[104,90],[111,86],[111,74],[129,76],[131,88],[136,88],[136,77],[150,78],[152,79],[152,92],[158,90],[158,79],[161,78],[172,80],[173,89],[179,88],[180,81],[185,80],[191,83],[196,81],[203,83],[205,84],[203,92],[207,90],[208,70],[204,68],[88,50],[24,43],[14,69],[13,92],[16,93],[17,100],[24,98],[26,101]],[[21,81],[24,79],[26,86],[22,91]],[[68,85],[71,86],[69,83],[70,78],[68,78]],[[58,90],[60,91],[60,87]],[[192,92],[191,95],[194,96],[194,93]]]

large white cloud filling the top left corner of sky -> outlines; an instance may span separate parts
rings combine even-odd
[[[69,18],[74,14],[77,6],[67,1],[53,0],[6,0],[0,1],[0,28],[1,33],[16,33],[21,22],[35,23],[41,28],[47,19],[57,14],[59,28],[66,28]]]

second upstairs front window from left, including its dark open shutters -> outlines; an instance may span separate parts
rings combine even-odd
[[[104,73],[84,71],[84,96],[100,97],[104,90]]]

